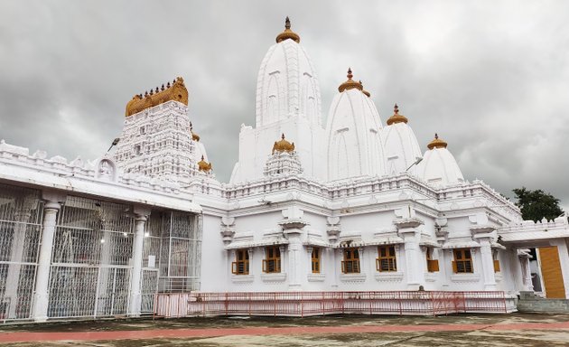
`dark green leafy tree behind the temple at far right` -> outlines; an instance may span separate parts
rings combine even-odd
[[[559,199],[541,189],[536,191],[527,190],[526,187],[514,189],[513,192],[518,198],[516,205],[522,212],[524,220],[555,220],[563,214],[559,207]]]

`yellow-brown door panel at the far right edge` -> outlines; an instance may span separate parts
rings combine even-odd
[[[564,299],[565,286],[557,246],[540,248],[539,258],[541,259],[541,274],[546,285],[546,297],[548,299]]]

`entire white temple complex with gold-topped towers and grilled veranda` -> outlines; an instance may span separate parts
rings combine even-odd
[[[364,88],[374,76],[351,66],[321,86],[311,42],[288,18],[275,33],[229,183],[182,77],[126,100],[94,160],[0,143],[0,320],[508,313],[521,293],[569,297],[565,216],[522,220],[463,176],[450,129],[417,139],[405,105]]]

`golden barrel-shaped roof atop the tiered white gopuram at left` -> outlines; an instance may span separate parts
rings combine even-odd
[[[146,91],[144,96],[142,94],[135,95],[126,104],[125,117],[171,100],[188,105],[188,89],[183,84],[182,77],[173,80],[172,84],[168,82],[166,86],[162,85],[162,88],[150,89],[150,92]]]

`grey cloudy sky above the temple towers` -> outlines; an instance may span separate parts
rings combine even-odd
[[[126,102],[176,76],[221,181],[254,125],[257,69],[284,16],[322,111],[350,66],[383,121],[397,102],[464,176],[544,189],[569,211],[569,1],[0,0],[0,138],[94,159]]]

